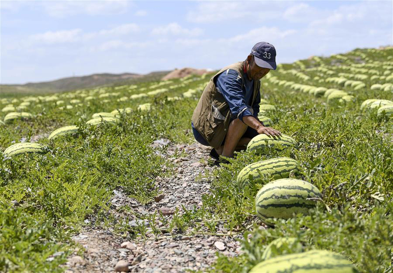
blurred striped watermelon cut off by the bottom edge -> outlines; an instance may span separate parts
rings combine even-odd
[[[340,254],[327,250],[280,255],[254,266],[249,273],[358,273]]]

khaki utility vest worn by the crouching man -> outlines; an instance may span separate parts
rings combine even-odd
[[[202,96],[198,101],[197,108],[194,110],[192,117],[194,127],[203,136],[203,138],[206,139],[209,145],[216,149],[221,146],[221,143],[227,134],[231,113],[227,101],[224,96],[217,91],[214,81],[221,72],[224,72],[227,69],[236,70],[239,72],[242,80],[244,79],[243,62],[231,64],[221,69],[212,77],[212,79],[210,79],[209,83],[203,90]],[[259,80],[254,81],[252,104],[258,95],[260,87],[261,82]]]

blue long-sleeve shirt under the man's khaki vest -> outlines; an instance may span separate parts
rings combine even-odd
[[[244,82],[243,89],[242,81]],[[218,92],[220,92],[227,101],[233,117],[239,118],[243,122],[243,117],[247,115],[258,116],[261,94],[258,92],[252,104],[254,80],[248,80],[246,73],[244,74],[244,79],[242,79],[236,70],[228,69],[217,77],[215,85]]]

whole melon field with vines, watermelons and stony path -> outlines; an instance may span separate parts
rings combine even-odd
[[[0,272],[392,272],[393,48],[279,64],[284,136],[221,166],[191,130],[213,75],[1,93]]]

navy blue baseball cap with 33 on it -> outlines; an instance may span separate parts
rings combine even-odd
[[[259,42],[251,49],[255,63],[259,67],[276,70],[276,48],[272,44]]]

